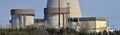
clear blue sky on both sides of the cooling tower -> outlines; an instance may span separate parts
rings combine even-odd
[[[8,26],[10,9],[35,9],[35,18],[43,18],[47,0],[0,0],[0,25]],[[107,17],[109,26],[120,29],[120,0],[80,0],[84,17]]]

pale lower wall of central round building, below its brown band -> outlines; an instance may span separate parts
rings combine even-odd
[[[58,28],[58,14],[48,14],[46,16],[47,26],[48,28]],[[60,27],[63,25],[63,15],[60,15]]]

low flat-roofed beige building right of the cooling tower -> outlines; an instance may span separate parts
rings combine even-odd
[[[107,20],[104,17],[70,18],[69,21],[71,22],[69,27],[78,31],[83,29],[88,32],[103,32],[104,30],[111,31],[111,29],[106,26]]]

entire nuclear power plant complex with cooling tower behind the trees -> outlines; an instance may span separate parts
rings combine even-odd
[[[12,9],[12,28],[42,25],[45,28],[86,29],[89,32],[111,30],[105,17],[82,17],[79,0],[47,0],[44,19],[34,19],[33,9]]]

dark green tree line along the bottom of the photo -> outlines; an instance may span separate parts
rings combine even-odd
[[[15,28],[15,29],[0,29],[0,35],[37,35],[37,27],[27,27],[27,28]],[[86,30],[76,31],[71,28],[61,28],[61,29],[45,29],[49,35],[120,35],[120,30],[115,30],[113,32],[87,32]],[[41,31],[40,31],[41,32]]]

